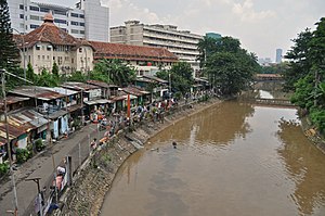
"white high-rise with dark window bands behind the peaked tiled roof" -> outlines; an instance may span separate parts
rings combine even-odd
[[[75,38],[109,41],[109,10],[100,0],[80,0],[76,8],[30,0],[10,0],[8,5],[11,26],[21,34],[41,26],[42,17],[51,13],[54,23]]]

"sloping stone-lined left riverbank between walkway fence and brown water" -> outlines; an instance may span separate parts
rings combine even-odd
[[[73,187],[63,195],[62,203],[65,204],[56,215],[99,215],[116,173],[132,153],[168,126],[218,102],[220,100],[212,99],[209,102],[191,103],[169,113],[161,122],[142,122],[120,131],[83,164]]]

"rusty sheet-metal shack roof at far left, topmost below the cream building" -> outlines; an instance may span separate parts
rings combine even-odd
[[[18,94],[28,98],[36,98],[43,101],[50,101],[53,99],[65,97],[64,94],[44,89],[43,87],[39,87],[39,86],[22,86],[9,91],[9,93]]]

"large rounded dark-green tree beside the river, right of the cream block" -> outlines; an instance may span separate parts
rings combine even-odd
[[[260,71],[257,56],[242,49],[238,39],[205,37],[198,45],[200,59],[205,58],[204,73],[223,94],[236,94],[245,90]]]

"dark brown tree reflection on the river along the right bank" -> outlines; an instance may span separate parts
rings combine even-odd
[[[309,143],[300,125],[280,120],[278,128],[277,136],[283,145],[277,152],[287,174],[296,182],[291,199],[302,215],[312,215],[322,207],[321,203],[325,203],[324,154]]]

